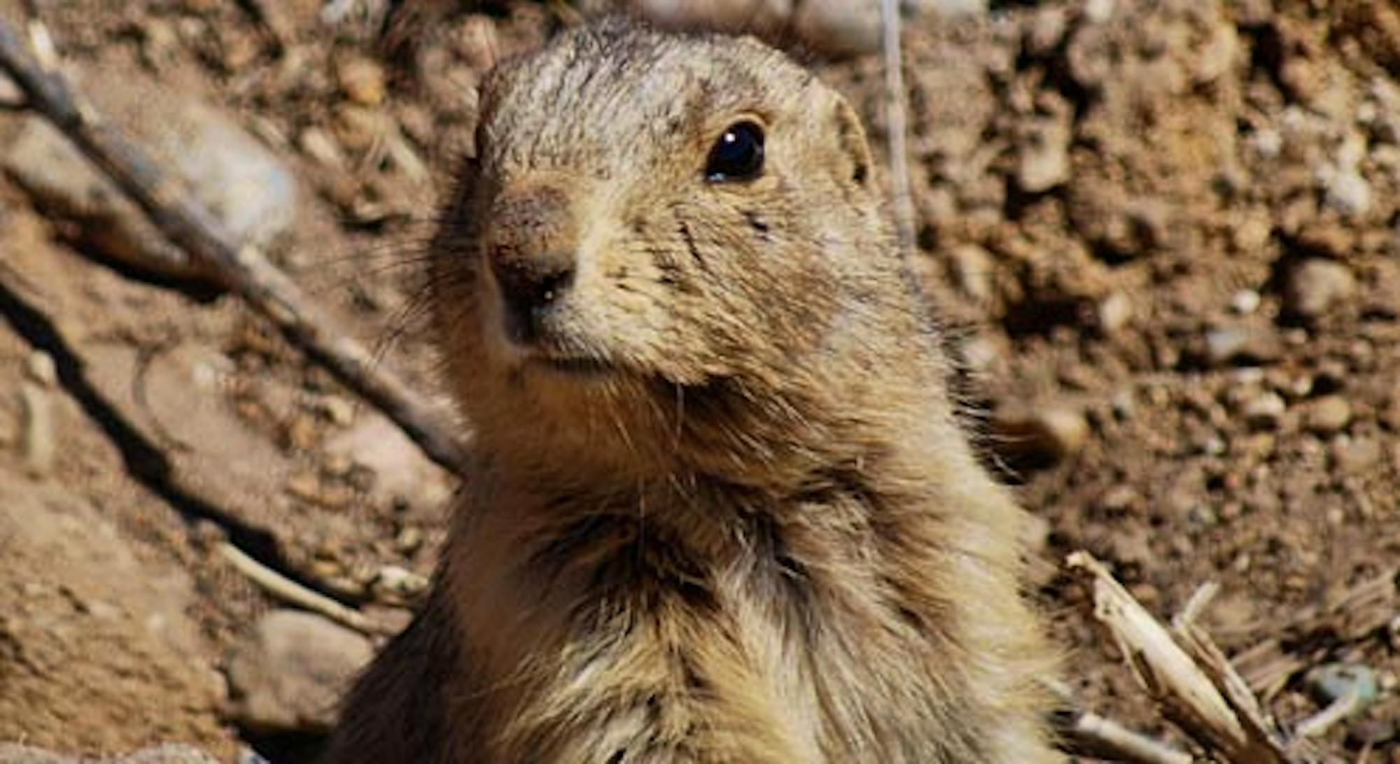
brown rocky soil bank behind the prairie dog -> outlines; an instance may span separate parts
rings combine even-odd
[[[762,28],[883,146],[878,14],[640,4]],[[105,113],[431,390],[414,264],[473,87],[595,6],[0,0],[0,18],[31,39],[42,20]],[[1361,693],[1327,756],[1400,763],[1400,10],[906,10],[917,262],[990,452],[1043,519],[1036,585],[1072,688],[1175,735],[1060,571],[1088,549],[1163,617],[1219,582],[1208,625],[1285,729]],[[0,760],[309,760],[374,642],[273,599],[230,549],[403,624],[452,480],[192,273],[3,80],[0,167],[0,742],[34,746]]]

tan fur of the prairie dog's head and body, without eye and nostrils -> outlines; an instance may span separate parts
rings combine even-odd
[[[330,761],[1060,760],[1022,516],[850,106],[757,42],[620,21],[482,104],[431,269],[476,455]],[[741,119],[763,174],[711,182]],[[571,271],[532,339],[493,269]]]

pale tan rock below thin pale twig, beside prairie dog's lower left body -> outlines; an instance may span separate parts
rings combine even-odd
[[[368,639],[321,616],[267,613],[228,663],[232,716],[259,732],[326,732],[372,656]]]

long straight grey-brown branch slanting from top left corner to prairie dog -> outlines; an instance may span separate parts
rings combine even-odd
[[[356,340],[305,298],[260,250],[235,243],[199,201],[183,193],[148,157],[81,104],[57,71],[45,71],[0,20],[0,69],[8,71],[29,106],[63,132],[146,213],[172,243],[207,274],[270,318],[283,336],[337,379],[382,410],[430,459],[461,469],[462,444],[447,428],[452,417],[377,364]]]

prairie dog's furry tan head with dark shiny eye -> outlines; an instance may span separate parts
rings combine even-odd
[[[860,122],[781,53],[608,21],[501,64],[480,104],[431,281],[487,449],[778,459],[920,333]]]

